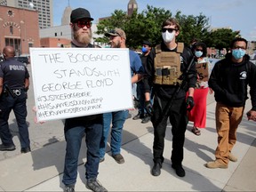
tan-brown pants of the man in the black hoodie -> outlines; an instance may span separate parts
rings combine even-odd
[[[218,147],[215,157],[221,164],[228,164],[228,154],[236,144],[236,129],[242,121],[243,114],[244,107],[230,108],[217,102],[215,118]]]

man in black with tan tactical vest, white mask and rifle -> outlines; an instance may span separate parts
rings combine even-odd
[[[188,124],[187,110],[194,107],[196,66],[190,49],[182,43],[176,43],[179,34],[178,21],[173,18],[165,20],[162,24],[163,42],[156,45],[156,52],[150,52],[146,66],[145,105],[151,112],[154,126],[154,166],[151,171],[154,176],[160,175],[164,162],[164,136],[168,117],[172,124],[172,168],[178,176],[185,176],[182,168],[183,146]],[[149,101],[151,86],[153,107]]]

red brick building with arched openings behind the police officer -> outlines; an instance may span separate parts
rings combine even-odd
[[[0,52],[6,45],[12,45],[16,55],[28,55],[29,47],[40,46],[38,12],[0,5]]]

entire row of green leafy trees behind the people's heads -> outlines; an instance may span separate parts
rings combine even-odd
[[[147,9],[138,13],[133,12],[128,16],[126,12],[115,10],[111,17],[100,20],[96,32],[98,35],[105,34],[113,28],[122,28],[125,31],[127,40],[126,45],[130,48],[139,48],[143,40],[149,40],[153,45],[162,41],[161,26],[164,20],[174,17],[180,22],[180,35],[178,41],[190,44],[196,38],[204,41],[208,47],[217,49],[228,48],[230,41],[239,34],[231,29],[220,28],[210,31],[209,19],[202,13],[197,16],[184,15],[180,11],[172,16],[171,11],[164,8],[156,8],[147,5]],[[106,36],[97,38],[96,41],[108,43]]]

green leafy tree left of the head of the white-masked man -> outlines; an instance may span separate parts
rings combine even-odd
[[[172,17],[172,13],[149,5],[147,9],[141,13],[133,12],[131,17],[127,16],[126,12],[116,10],[108,19],[100,20],[96,33],[100,35],[105,34],[109,29],[122,28],[127,37],[128,47],[138,48],[145,39],[152,44],[159,44],[161,25],[164,20]],[[107,43],[108,39],[103,37],[97,38],[96,41]]]

